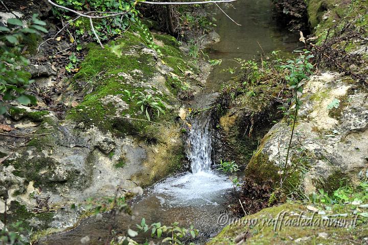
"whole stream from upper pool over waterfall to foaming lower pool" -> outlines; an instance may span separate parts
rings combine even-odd
[[[237,23],[214,10],[217,19],[217,32],[221,41],[208,50],[211,59],[222,59],[221,66],[215,67],[203,93],[193,102],[193,107],[204,108],[211,104],[221,84],[230,75],[221,72],[235,66],[234,58],[251,59],[260,53],[272,50],[292,51],[296,48],[295,37],[284,30],[277,29],[271,18],[270,0],[243,0],[223,8]],[[211,169],[211,128],[209,112],[201,113],[193,122],[187,142],[187,157],[191,161],[192,172],[180,173],[155,184],[145,190],[143,196],[134,199],[132,208],[135,219],[119,216],[112,229],[125,231],[145,217],[147,224],[161,222],[170,225],[173,221],[180,226],[192,224],[199,230],[196,243],[203,244],[224,227],[217,220],[226,209],[232,192],[228,177]],[[103,244],[108,236],[109,216],[101,221],[88,218],[68,232],[59,233],[43,240],[41,244],[80,244],[86,235],[89,244]],[[136,229],[135,229],[136,230]],[[144,242],[145,237],[139,237]]]

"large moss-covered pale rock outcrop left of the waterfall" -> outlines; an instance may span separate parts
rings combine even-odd
[[[0,136],[0,212],[6,199],[8,222],[64,229],[83,212],[72,204],[113,196],[117,186],[127,192],[145,187],[188,167],[176,97],[204,82],[203,73],[175,38],[155,34],[155,40],[162,55],[142,41],[137,28],[114,42],[121,56],[90,43],[73,78],[35,75],[41,103],[14,103],[6,123],[20,136]],[[60,83],[63,91],[50,94],[49,106],[42,91]],[[159,98],[165,115],[153,112],[149,121],[137,103],[144,99],[140,95]]]

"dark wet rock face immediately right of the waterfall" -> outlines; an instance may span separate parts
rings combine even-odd
[[[272,94],[269,91],[265,93]],[[214,112],[213,162],[235,161],[245,167],[273,121],[280,119],[277,108],[280,102],[277,99],[254,101],[246,94],[225,100],[228,104],[215,108]]]

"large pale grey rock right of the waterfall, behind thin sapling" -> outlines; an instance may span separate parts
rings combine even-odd
[[[321,187],[331,191],[340,181],[357,180],[368,155],[366,88],[341,74],[324,73],[308,81],[302,101],[288,164],[307,164],[301,180],[306,193]],[[246,172],[259,181],[277,180],[275,171],[285,163],[290,134],[285,119],[275,124]]]

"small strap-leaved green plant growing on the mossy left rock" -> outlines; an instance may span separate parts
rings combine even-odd
[[[142,92],[138,92],[137,98],[139,101],[136,103],[137,105],[141,105],[142,113],[146,115],[148,121],[151,121],[154,112],[156,112],[157,117],[162,113],[165,115],[165,105],[162,100],[158,97],[153,97],[150,94],[143,94]]]

